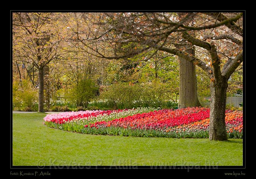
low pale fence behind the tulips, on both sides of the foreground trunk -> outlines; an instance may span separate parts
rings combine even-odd
[[[239,95],[239,94],[234,94],[234,95],[235,97],[227,97],[226,105],[229,104],[229,105],[238,107],[240,106],[240,104],[243,103],[243,95]],[[198,98],[199,98],[199,101],[202,103],[202,105],[210,106],[211,97],[198,97]]]

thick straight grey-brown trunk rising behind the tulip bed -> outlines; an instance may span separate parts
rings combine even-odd
[[[187,50],[195,55],[195,50]],[[196,66],[184,58],[179,57],[180,65],[180,98],[179,108],[201,106],[197,97]]]

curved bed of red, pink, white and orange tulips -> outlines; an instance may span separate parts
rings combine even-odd
[[[209,137],[210,109],[137,108],[113,111],[79,111],[48,114],[49,127],[86,134],[139,137]],[[229,138],[243,138],[243,111],[226,111]]]

